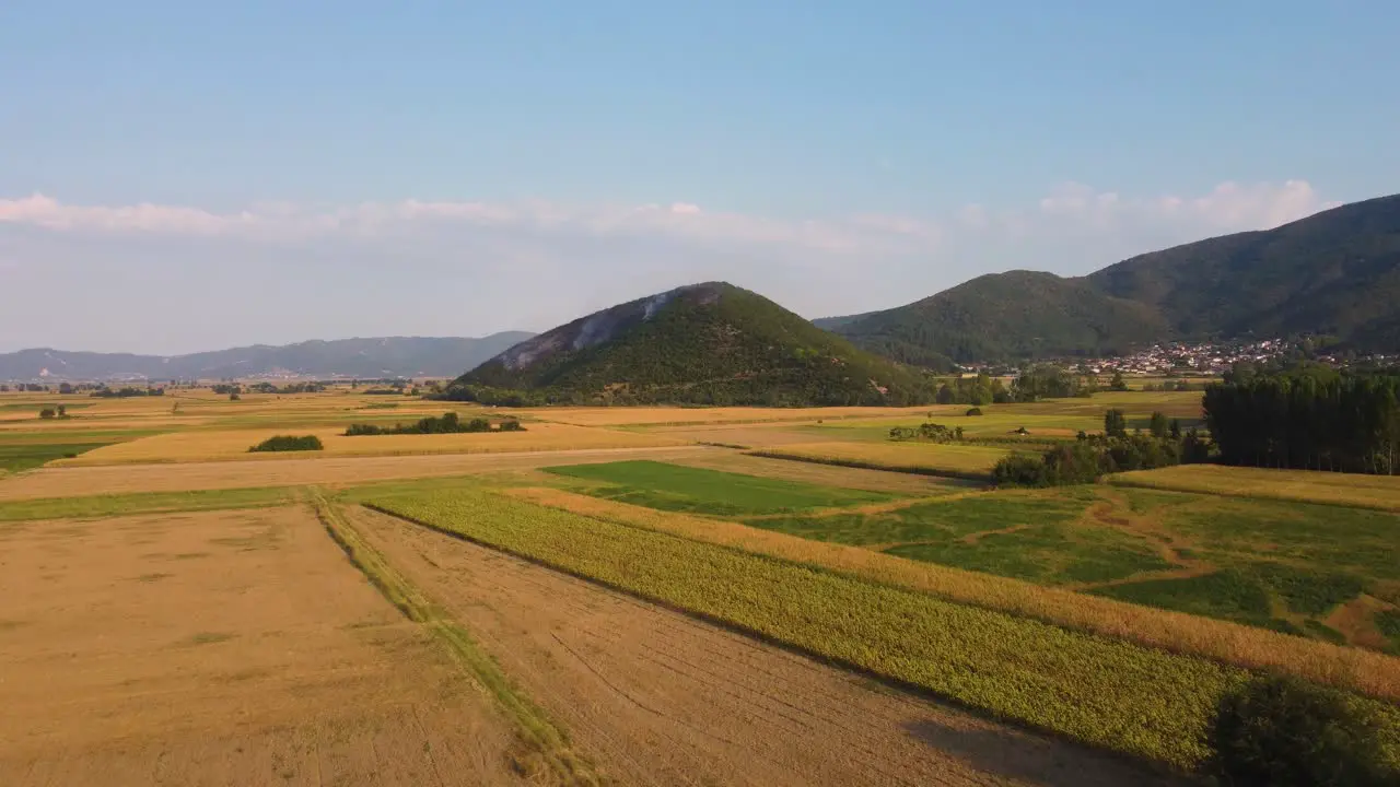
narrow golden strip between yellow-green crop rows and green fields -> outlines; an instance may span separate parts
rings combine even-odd
[[[1379,653],[907,560],[843,543],[809,541],[738,522],[598,500],[559,489],[512,489],[507,494],[587,517],[792,560],[1105,637],[1247,669],[1301,675],[1392,702],[1400,700],[1400,658]]]

